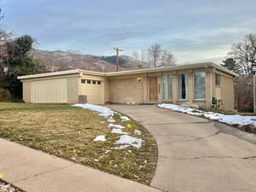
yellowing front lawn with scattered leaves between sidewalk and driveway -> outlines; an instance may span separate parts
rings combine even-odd
[[[113,131],[108,119],[88,109],[0,102],[0,137],[149,184],[157,161],[154,137],[136,121],[123,121],[119,113],[113,114],[113,120],[114,125],[125,127],[123,134],[143,140],[142,147],[122,148],[117,144],[121,137],[117,129]],[[106,141],[93,141],[98,136]]]

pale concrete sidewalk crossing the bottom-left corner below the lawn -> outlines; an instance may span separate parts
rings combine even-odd
[[[0,139],[0,174],[27,192],[160,192],[140,183]]]

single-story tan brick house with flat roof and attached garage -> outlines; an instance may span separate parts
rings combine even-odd
[[[21,76],[23,99],[33,103],[191,102],[210,108],[212,97],[234,109],[232,73],[211,62],[114,73],[70,70]]]

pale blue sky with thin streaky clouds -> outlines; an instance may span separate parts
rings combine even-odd
[[[256,33],[255,0],[0,0],[1,27],[37,49],[132,55],[159,43],[177,63],[220,63]]]

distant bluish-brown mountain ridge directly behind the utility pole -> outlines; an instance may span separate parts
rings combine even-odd
[[[102,61],[108,61],[110,63],[115,64],[116,63],[116,56],[97,56],[93,55],[94,58],[100,59]],[[137,69],[137,68],[148,68],[147,63],[142,61],[137,61],[136,59],[132,58],[131,56],[127,55],[120,55],[119,56],[119,65],[124,68],[129,69]]]

